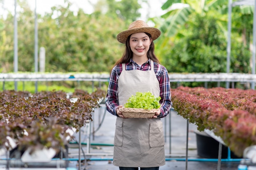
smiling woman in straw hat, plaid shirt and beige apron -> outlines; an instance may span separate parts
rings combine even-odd
[[[161,35],[146,22],[132,22],[128,30],[117,35],[126,50],[112,69],[107,110],[117,116],[113,164],[120,170],[158,170],[165,165],[164,134],[160,118],[171,110],[168,72],[159,64],[153,40]],[[153,118],[124,118],[119,111],[136,92],[151,92],[160,96],[161,108]]]

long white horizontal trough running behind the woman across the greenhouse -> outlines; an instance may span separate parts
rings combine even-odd
[[[169,73],[170,82],[256,82],[255,74],[244,73]],[[102,81],[108,73],[0,73],[0,81]]]

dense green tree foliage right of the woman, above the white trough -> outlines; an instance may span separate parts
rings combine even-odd
[[[175,3],[185,5],[168,10]],[[227,1],[167,0],[162,9],[168,11],[152,20],[164,35],[156,46],[169,72],[226,72]],[[248,73],[250,51],[243,42],[252,33],[252,8],[236,8],[232,18],[230,71]]]

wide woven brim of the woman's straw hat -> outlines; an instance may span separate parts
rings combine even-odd
[[[126,39],[129,37],[129,35],[132,35],[134,33],[149,33],[153,39],[157,39],[161,35],[161,31],[154,27],[143,27],[143,28],[134,28],[126,31],[122,31],[117,35],[117,41],[125,44]]]

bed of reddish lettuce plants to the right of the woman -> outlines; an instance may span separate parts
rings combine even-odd
[[[256,145],[256,90],[178,87],[171,93],[179,115],[198,131],[212,130],[238,157]]]

